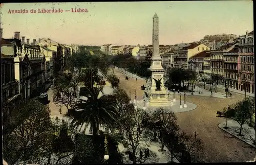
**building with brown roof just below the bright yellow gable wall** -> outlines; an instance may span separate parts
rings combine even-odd
[[[210,51],[200,52],[188,59],[188,68],[197,73],[198,76],[204,74],[204,58],[210,57]]]

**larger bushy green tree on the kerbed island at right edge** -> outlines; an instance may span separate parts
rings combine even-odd
[[[252,103],[253,102],[249,99],[244,99],[231,106],[231,108],[234,109],[234,116],[231,117],[231,119],[238,122],[240,125],[240,136],[242,135],[243,125],[246,123],[246,121],[250,120],[251,115],[254,112],[254,104],[252,105]]]

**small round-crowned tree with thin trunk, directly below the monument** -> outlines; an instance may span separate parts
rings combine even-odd
[[[164,151],[164,138],[167,134],[175,134],[179,130],[177,117],[168,108],[160,107],[151,116],[152,130],[159,132],[158,138],[161,142],[161,151]]]

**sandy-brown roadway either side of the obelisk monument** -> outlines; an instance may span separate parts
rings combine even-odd
[[[125,80],[125,75],[119,70],[115,69],[114,71],[117,77],[121,79],[120,87],[128,95],[131,90],[132,100],[135,99],[134,89],[136,89],[137,98],[141,100],[144,91],[140,89],[140,86],[146,85],[145,81],[138,79],[136,81],[134,78],[130,78],[127,81]],[[223,90],[219,89],[217,91],[223,92]],[[175,98],[176,101],[179,100],[179,96],[175,95]],[[217,117],[216,112],[222,111],[224,107],[243,98],[244,95],[239,93],[232,93],[232,98],[226,99],[187,96],[186,102],[197,105],[197,108],[183,113],[176,113],[181,130],[191,134],[196,131],[198,137],[202,139],[205,153],[202,159],[205,162],[242,162],[254,159],[255,149],[218,128],[218,125],[225,122],[225,119]]]

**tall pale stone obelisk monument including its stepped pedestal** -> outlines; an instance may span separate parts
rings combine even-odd
[[[151,66],[148,68],[152,73],[152,84],[150,90],[150,101],[149,106],[168,106],[170,101],[168,101],[168,92],[163,84],[164,68],[162,67],[162,58],[159,52],[159,22],[158,16],[155,13],[153,17],[153,55],[151,58]],[[160,90],[156,88],[156,80],[161,80]]]

